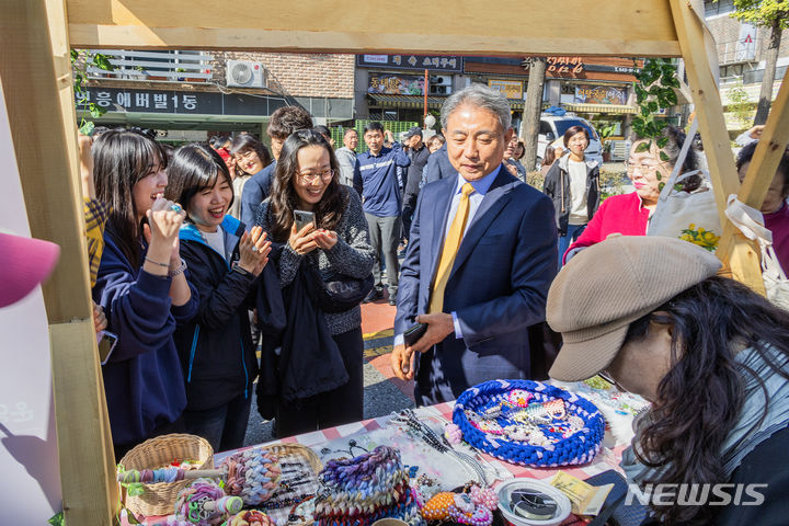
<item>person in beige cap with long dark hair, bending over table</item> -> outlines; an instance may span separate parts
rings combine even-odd
[[[789,312],[719,267],[672,238],[616,237],[579,253],[548,294],[564,340],[550,376],[599,374],[652,402],[622,468],[652,488],[660,524],[786,524]],[[702,484],[699,505],[678,504],[690,483]],[[681,485],[655,496],[656,484]]]

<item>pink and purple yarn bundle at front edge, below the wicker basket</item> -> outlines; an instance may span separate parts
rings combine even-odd
[[[225,495],[213,480],[197,479],[179,492],[175,516],[187,524],[210,526],[239,513],[242,507],[240,498]]]

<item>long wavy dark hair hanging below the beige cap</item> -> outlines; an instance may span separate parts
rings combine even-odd
[[[672,367],[658,386],[649,425],[639,434],[639,460],[666,467],[647,483],[714,484],[727,481],[722,447],[740,419],[745,375],[764,382],[735,359],[753,347],[769,367],[789,379],[789,312],[745,285],[710,277],[630,324],[625,342],[644,338],[649,322],[671,324]],[[773,347],[778,362],[767,352]],[[766,415],[767,409],[765,408]],[[761,421],[757,423],[757,425]],[[709,506],[659,506],[665,524],[707,524]]]

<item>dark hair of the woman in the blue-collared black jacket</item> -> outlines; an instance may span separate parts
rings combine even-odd
[[[164,197],[180,203],[188,213],[192,197],[205,188],[213,188],[217,179],[222,178],[232,192],[230,171],[219,153],[202,142],[182,146],[168,168],[168,185]],[[230,199],[232,204],[236,195]]]

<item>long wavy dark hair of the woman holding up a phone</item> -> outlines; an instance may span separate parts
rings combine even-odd
[[[340,164],[329,142],[322,135],[311,129],[295,132],[283,144],[279,160],[274,171],[274,184],[270,196],[270,213],[273,218],[271,221],[271,235],[274,241],[284,242],[290,237],[290,228],[294,221],[293,211],[298,208],[298,195],[294,188],[293,178],[299,171],[298,151],[307,146],[325,148],[329,152],[329,163],[334,170],[334,176],[327,186],[323,197],[315,207],[316,226],[327,230],[335,229],[347,206],[347,193],[338,182]]]

